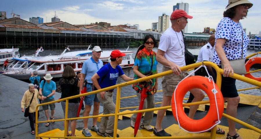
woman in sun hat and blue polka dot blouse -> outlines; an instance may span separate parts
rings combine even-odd
[[[235,79],[228,77],[230,73],[232,76],[234,74],[229,60],[239,59],[242,56],[246,58],[249,39],[239,20],[247,17],[248,9],[252,6],[253,4],[248,0],[229,0],[226,11],[223,13],[224,18],[218,23],[215,33],[212,62],[221,65],[222,61],[224,64],[225,77],[222,77],[221,92],[224,102],[227,101],[226,113],[235,118],[240,98],[235,86]],[[235,130],[235,122],[228,119],[228,124],[229,131],[226,139],[242,139]]]

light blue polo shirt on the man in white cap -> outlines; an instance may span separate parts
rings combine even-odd
[[[93,83],[91,80],[92,76],[103,66],[103,63],[101,60],[98,60],[98,63],[96,63],[93,58],[87,59],[84,61],[84,64],[81,68],[81,73],[85,74],[85,79],[88,83]]]

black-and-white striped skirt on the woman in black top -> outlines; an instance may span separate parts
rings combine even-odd
[[[65,117],[65,102],[61,102],[63,111],[64,111],[64,117]],[[77,112],[79,108],[79,103],[69,103],[68,104],[68,118],[76,118]]]

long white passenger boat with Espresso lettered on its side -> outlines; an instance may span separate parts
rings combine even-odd
[[[101,53],[100,60],[106,62],[110,62],[110,54],[112,51],[103,51]],[[123,57],[122,64],[120,66],[122,68],[133,67],[134,59],[132,58],[132,51],[121,51],[125,53],[126,56]],[[85,60],[91,58],[92,50],[83,50],[83,51],[75,51],[75,52],[66,52],[57,56],[45,56],[39,59],[28,59],[28,64],[25,65],[22,70],[11,71],[8,70],[2,74],[16,78],[19,80],[28,79],[33,73],[33,71],[37,70],[38,75],[43,78],[45,74],[50,73],[52,77],[59,78],[61,77],[64,68],[67,65],[73,67],[74,71],[81,71],[81,67]]]

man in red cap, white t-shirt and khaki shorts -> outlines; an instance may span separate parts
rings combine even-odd
[[[162,77],[163,98],[161,107],[171,105],[171,98],[177,84],[188,75],[187,71],[180,70],[180,67],[186,65],[185,45],[181,31],[188,23],[187,19],[192,18],[193,17],[188,15],[184,10],[173,11],[170,18],[171,27],[160,37],[156,60],[163,65],[162,72],[168,70],[173,71],[173,74]],[[189,91],[195,96],[192,102],[201,101],[204,98],[204,93],[200,89],[191,89]],[[190,106],[189,118],[193,119],[197,108],[198,105]],[[157,113],[157,121],[153,130],[156,136],[171,136],[171,134],[164,131],[161,126],[165,112],[166,109],[163,109]]]

